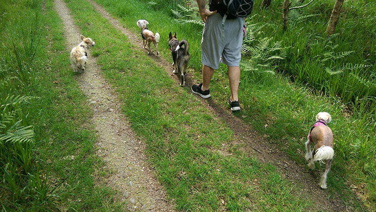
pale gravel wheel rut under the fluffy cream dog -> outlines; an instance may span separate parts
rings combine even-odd
[[[70,51],[80,42],[80,30],[74,25],[64,0],[55,0],[55,10],[63,20],[67,50]],[[91,121],[98,133],[97,155],[106,162],[105,169],[112,170],[99,183],[117,190],[120,200],[128,203],[128,211],[174,211],[153,168],[146,163],[144,142],[135,136],[121,113],[121,104],[100,74],[95,58],[90,52],[88,56],[87,70],[77,75],[76,80],[93,109]]]

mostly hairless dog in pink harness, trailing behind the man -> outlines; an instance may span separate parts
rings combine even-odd
[[[331,116],[327,112],[319,112],[316,115],[316,123],[309,130],[307,142],[305,142],[305,159],[308,161],[308,167],[315,169],[315,161],[326,163],[325,172],[321,176],[319,185],[322,189],[327,188],[327,175],[330,170],[331,160],[334,156],[333,133],[327,124],[331,121]],[[311,151],[311,142],[315,145]]]

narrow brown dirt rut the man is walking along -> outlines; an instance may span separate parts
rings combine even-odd
[[[110,23],[120,30],[123,34],[129,37],[129,41],[135,46],[141,49],[141,37],[139,33],[134,33],[127,28],[122,27],[122,24],[115,18],[113,18],[102,6],[97,4],[94,0],[88,0],[93,4],[94,8],[105,17]],[[135,22],[136,24],[136,22]],[[145,51],[146,53],[146,51]],[[162,57],[150,55],[158,64],[162,65],[167,74],[171,75],[172,66],[170,61],[164,60]],[[178,83],[180,80],[177,76],[172,75]],[[192,82],[189,75],[186,78],[186,88],[190,92],[190,86],[196,82]],[[196,83],[197,84],[197,83]],[[197,97],[202,104],[211,108],[212,112],[218,117],[222,118],[225,123],[234,131],[234,141],[237,143],[243,143],[243,151],[247,152],[251,157],[257,157],[260,161],[265,163],[271,163],[275,165],[279,172],[290,182],[296,184],[299,182],[303,185],[303,191],[296,193],[296,195],[307,195],[307,198],[314,202],[314,206],[311,211],[352,211],[341,200],[337,198],[329,197],[327,190],[321,190],[317,185],[320,174],[317,170],[309,172],[303,165],[297,164],[291,160],[284,152],[282,152],[276,145],[269,143],[265,138],[258,135],[257,131],[251,126],[246,125],[243,121],[232,115],[229,109],[224,109],[219,106],[211,98],[201,99]],[[303,145],[303,144],[302,144]],[[302,160],[304,160],[304,154],[302,153]]]

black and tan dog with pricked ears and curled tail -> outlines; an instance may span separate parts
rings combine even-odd
[[[186,84],[185,75],[187,73],[187,65],[190,60],[188,41],[183,39],[179,42],[176,38],[176,32],[174,32],[174,35],[170,32],[168,35],[168,45],[170,46],[173,60],[172,65],[174,66],[172,73],[180,73],[180,79],[182,81],[180,86],[184,86]]]

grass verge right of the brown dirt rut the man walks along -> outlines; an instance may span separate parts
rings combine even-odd
[[[165,9],[156,11],[138,0],[96,1],[137,34],[140,29],[136,21],[149,21],[149,29],[161,34],[159,50],[168,60],[171,60],[167,50],[168,32],[176,31],[179,39],[187,39],[191,55],[189,65],[194,69],[189,71],[197,82],[201,81],[200,28],[179,23]],[[255,10],[255,13],[268,13],[257,11],[257,7]],[[221,66],[211,80],[211,98],[224,107],[230,93],[226,75],[226,69]],[[371,211],[376,209],[375,123],[362,118],[362,114],[344,114],[344,106],[337,98],[312,95],[309,89],[291,84],[278,74],[242,71],[240,79],[239,99],[243,110],[239,116],[267,135],[271,142],[281,144],[281,148],[298,163],[305,163],[304,143],[314,116],[319,111],[328,111],[333,117],[329,126],[334,132],[335,142],[328,191],[341,194],[343,201],[359,207],[349,188],[352,187]]]

